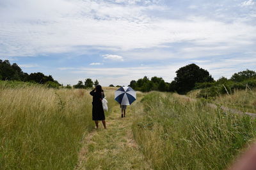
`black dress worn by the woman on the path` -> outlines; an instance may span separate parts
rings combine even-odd
[[[95,92],[92,90],[90,95],[92,98],[92,120],[105,120],[105,114],[102,107],[102,97],[104,98],[104,93]]]

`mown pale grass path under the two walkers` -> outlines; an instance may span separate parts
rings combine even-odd
[[[151,169],[133,139],[134,116],[128,106],[126,117],[121,118],[116,105],[106,118],[107,129],[99,122],[99,129],[84,138],[76,169]]]

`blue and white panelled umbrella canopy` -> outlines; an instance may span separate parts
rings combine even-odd
[[[115,91],[115,100],[121,105],[130,105],[136,100],[136,92],[131,87],[120,87]]]

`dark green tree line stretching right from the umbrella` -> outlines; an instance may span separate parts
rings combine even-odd
[[[226,84],[229,82],[229,86],[227,85],[227,87],[230,87],[230,90],[232,90],[233,87],[244,89],[245,85],[248,84],[251,87],[256,86],[256,81],[252,81],[256,79],[256,73],[248,69],[234,73],[229,80],[225,77],[221,77],[217,81],[212,78],[211,74],[209,74],[206,69],[202,69],[196,64],[188,64],[187,66],[180,67],[175,73],[176,77],[171,83],[165,82],[163,78],[156,76],[152,77],[150,80],[147,76],[144,76],[144,78],[140,78],[137,81],[132,80],[129,86],[134,90],[140,90],[142,92],[157,90],[161,92],[177,92],[179,94],[186,94],[193,89],[204,89],[224,82]],[[221,86],[223,85],[221,84]]]

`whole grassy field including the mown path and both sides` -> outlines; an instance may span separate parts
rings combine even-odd
[[[251,117],[167,92],[137,92],[120,118],[117,88],[103,89],[108,129],[96,131],[89,90],[2,82],[0,169],[225,169],[256,136]],[[253,100],[240,91],[216,104],[242,110]]]

